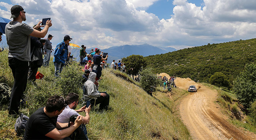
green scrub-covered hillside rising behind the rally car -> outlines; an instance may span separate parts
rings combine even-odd
[[[147,67],[155,73],[208,82],[211,75],[221,72],[233,80],[246,63],[256,62],[256,38],[185,48],[145,57]]]

